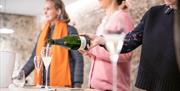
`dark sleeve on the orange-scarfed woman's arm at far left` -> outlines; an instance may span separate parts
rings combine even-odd
[[[34,47],[32,51],[31,57],[22,68],[22,70],[24,70],[25,72],[25,77],[27,77],[34,70],[34,56],[35,55],[36,55],[36,46]]]

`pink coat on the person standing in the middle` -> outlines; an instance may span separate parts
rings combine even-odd
[[[110,17],[105,17],[99,25],[96,34],[103,35],[103,30],[120,30],[124,28],[128,33],[133,23],[128,13],[117,11]],[[97,46],[88,52],[91,58],[89,85],[98,90],[112,90],[112,64],[109,52]],[[130,60],[132,53],[120,54],[117,64],[117,91],[130,91]]]

